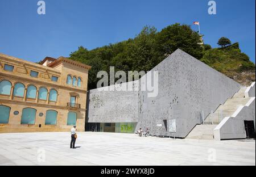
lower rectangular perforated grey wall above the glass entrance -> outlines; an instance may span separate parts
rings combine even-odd
[[[108,90],[110,90],[109,86]],[[138,91],[90,90],[89,123],[134,123],[138,121]]]

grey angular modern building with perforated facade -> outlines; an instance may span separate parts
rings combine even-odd
[[[86,130],[134,133],[149,128],[155,136],[185,138],[241,89],[239,83],[180,49],[151,71],[159,74],[156,97],[141,89],[90,90]],[[255,120],[255,111],[251,120],[253,116]]]

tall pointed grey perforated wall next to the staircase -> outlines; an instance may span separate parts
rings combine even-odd
[[[151,71],[159,71],[159,94],[147,98],[147,91],[142,91],[143,109],[137,129],[150,127],[151,133],[159,136],[174,136],[168,132],[168,119],[176,119],[176,137],[187,136],[203,122],[202,111],[207,117],[241,87],[179,49]],[[167,127],[156,127],[164,125],[164,120]]]

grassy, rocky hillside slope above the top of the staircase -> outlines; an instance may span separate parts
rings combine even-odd
[[[255,64],[241,52],[238,43],[205,50],[201,61],[243,86],[250,86],[255,81]]]

